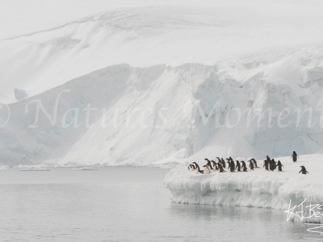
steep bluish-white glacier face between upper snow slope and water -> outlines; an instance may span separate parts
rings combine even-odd
[[[260,159],[293,150],[323,153],[317,111],[323,103],[322,49],[266,50],[213,66],[119,64],[94,71],[9,104],[11,118],[0,132],[0,162],[174,166],[214,154]],[[36,120],[37,100],[52,119],[58,100],[55,124],[42,109]],[[96,110],[87,118],[88,105]],[[268,107],[273,127],[267,125]],[[281,128],[278,117],[286,107],[292,111],[281,123],[289,125]],[[305,111],[309,107],[311,120]],[[238,123],[235,108],[243,112]],[[253,113],[249,119],[248,108]],[[298,108],[305,111],[299,124]],[[257,109],[264,112],[259,126]],[[0,122],[7,116],[2,108]],[[62,125],[63,119],[71,125]]]

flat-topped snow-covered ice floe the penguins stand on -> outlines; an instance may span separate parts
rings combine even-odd
[[[235,159],[234,159],[235,160]],[[303,216],[300,218],[294,209],[289,220],[323,223],[323,212],[318,216],[309,214],[309,204],[323,204],[323,155],[302,155],[293,163],[290,157],[276,158],[284,165],[284,172],[265,171],[263,161],[248,172],[212,172],[196,174],[189,171],[188,164],[178,165],[165,177],[164,186],[172,193],[171,200],[176,203],[232,205],[246,207],[275,208],[284,211],[303,203]],[[240,160],[241,161],[241,160]],[[245,160],[247,166],[249,162]],[[204,161],[197,162],[200,167]],[[305,166],[309,174],[299,174],[300,166]],[[227,169],[225,169],[227,170]],[[320,208],[322,208],[320,206]],[[288,213],[286,213],[287,217]],[[312,216],[311,216],[312,215]],[[304,218],[309,217],[309,218]]]

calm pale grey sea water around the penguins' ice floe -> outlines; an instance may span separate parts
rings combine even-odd
[[[0,171],[1,241],[322,241],[274,209],[175,204],[169,169]]]

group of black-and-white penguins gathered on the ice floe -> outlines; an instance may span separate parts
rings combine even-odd
[[[297,162],[297,157],[298,155],[296,154],[296,152],[293,152],[293,155],[291,156],[291,158],[293,157],[293,162]],[[212,171],[216,171],[218,170],[219,172],[226,172],[224,169],[226,168],[226,162],[223,158],[219,158],[216,157],[218,159],[218,163],[215,162],[214,160],[209,160],[207,158],[205,158],[204,160],[206,161],[206,164],[203,165],[203,169],[201,170],[199,165],[196,162],[193,162],[192,164],[190,164],[188,166],[188,170],[196,170],[196,173],[202,173],[202,174],[209,174]],[[299,158],[299,157],[298,157]],[[233,159],[231,157],[226,158],[227,163],[228,163],[228,171],[229,172],[247,172],[248,168],[246,166],[246,163],[244,161],[238,161],[236,160],[237,164],[235,164],[235,162],[233,161]],[[253,168],[259,168],[257,166],[257,161],[255,159],[250,159],[248,160],[249,162],[249,169],[250,170],[254,170]],[[267,156],[267,159],[265,159],[263,161],[263,166],[265,168],[265,171],[274,171],[277,167],[278,167],[278,172],[283,171],[282,167],[283,164],[281,163],[281,161],[279,160],[277,163],[274,159],[269,158],[269,156]],[[301,166],[301,170],[298,173],[302,174],[306,174],[308,173],[308,171],[306,170],[306,168],[302,165]],[[237,171],[236,171],[237,169]]]

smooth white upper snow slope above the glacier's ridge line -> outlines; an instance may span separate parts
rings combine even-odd
[[[0,41],[1,99],[15,102],[14,88],[33,96],[115,64],[214,65],[241,53],[323,39],[319,1],[196,5],[110,10],[8,37]]]

